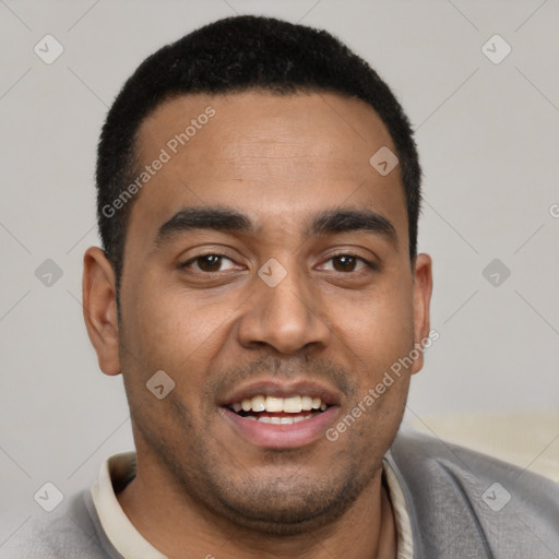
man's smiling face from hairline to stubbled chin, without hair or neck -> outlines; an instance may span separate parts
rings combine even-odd
[[[120,362],[140,467],[186,499],[247,525],[304,523],[378,472],[420,360],[325,432],[428,331],[400,169],[369,163],[382,146],[395,152],[376,112],[334,94],[181,96],[143,122],[141,167],[170,159],[128,225]],[[193,212],[210,209],[228,215]],[[146,388],[159,370],[175,382],[162,400]]]

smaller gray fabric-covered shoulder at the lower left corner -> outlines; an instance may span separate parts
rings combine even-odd
[[[31,518],[1,548],[0,559],[108,559],[82,491],[50,513]]]

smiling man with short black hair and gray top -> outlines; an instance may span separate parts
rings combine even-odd
[[[83,280],[136,452],[11,557],[559,557],[555,484],[396,435],[438,335],[419,183],[401,106],[325,32],[231,17],[144,61]]]

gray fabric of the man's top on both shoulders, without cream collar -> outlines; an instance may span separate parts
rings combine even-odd
[[[411,431],[399,433],[386,459],[407,502],[414,559],[559,559],[558,484]],[[484,500],[495,483],[503,489]],[[88,490],[27,524],[0,559],[122,559]]]

